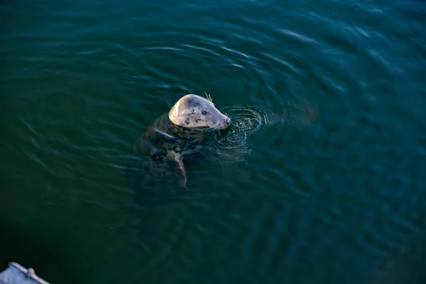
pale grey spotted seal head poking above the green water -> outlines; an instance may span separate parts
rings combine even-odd
[[[173,124],[186,129],[226,129],[231,124],[231,119],[214,107],[210,98],[196,94],[187,94],[178,100],[168,116]]]

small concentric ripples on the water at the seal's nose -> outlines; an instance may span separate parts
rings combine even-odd
[[[225,160],[244,160],[250,153],[251,135],[278,121],[275,114],[260,107],[226,107],[221,111],[231,118],[231,125],[227,129],[217,131],[214,139],[216,142],[208,148]]]

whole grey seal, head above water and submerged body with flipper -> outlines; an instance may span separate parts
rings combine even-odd
[[[214,106],[212,97],[206,96],[187,94],[180,98],[133,143],[133,153],[148,156],[151,167],[165,163],[174,168],[182,188],[187,188],[185,156],[200,152],[208,133],[231,124],[231,119]]]

